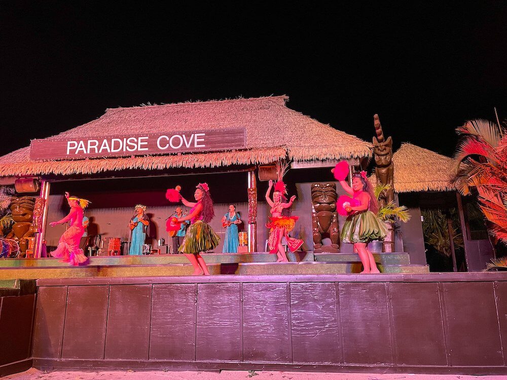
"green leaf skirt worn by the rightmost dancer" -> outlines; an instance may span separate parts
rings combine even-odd
[[[367,210],[347,217],[342,227],[341,239],[344,243],[369,243],[383,240],[387,226],[377,215]]]

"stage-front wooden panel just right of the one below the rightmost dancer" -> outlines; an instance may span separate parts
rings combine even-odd
[[[389,283],[396,364],[447,365],[438,283]]]

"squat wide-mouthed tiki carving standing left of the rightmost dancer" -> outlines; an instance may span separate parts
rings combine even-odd
[[[340,252],[336,184],[333,182],[312,183],[311,196],[313,251],[316,253]],[[324,237],[331,239],[331,245],[322,245]]]

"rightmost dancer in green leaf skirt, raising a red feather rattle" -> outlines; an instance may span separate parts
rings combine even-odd
[[[341,239],[345,243],[353,243],[357,251],[364,271],[361,273],[380,273],[373,257],[368,249],[368,243],[372,240],[383,240],[387,235],[387,227],[377,216],[378,204],[373,186],[368,180],[365,171],[352,174],[352,187],[348,185],[345,178],[348,173],[342,161],[332,171],[335,178],[340,181],[345,192],[352,196],[354,202],[344,204],[348,216],[342,227]]]

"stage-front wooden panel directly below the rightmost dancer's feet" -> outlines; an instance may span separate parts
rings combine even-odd
[[[341,283],[339,293],[345,363],[392,363],[384,283]]]

